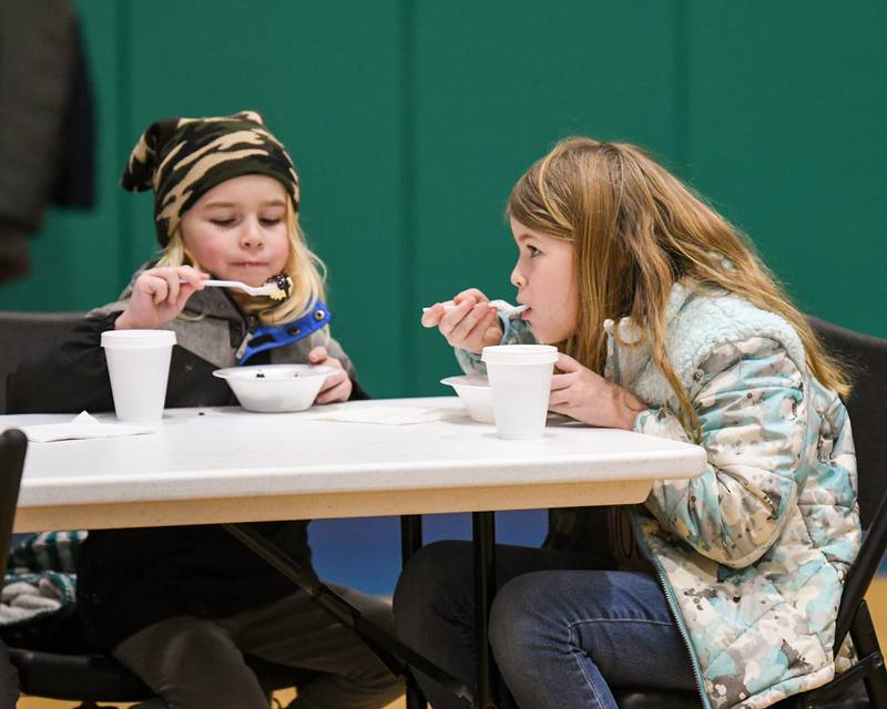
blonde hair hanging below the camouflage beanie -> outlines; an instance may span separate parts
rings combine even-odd
[[[286,201],[286,223],[289,236],[289,255],[284,266],[284,275],[289,276],[293,288],[289,297],[277,301],[266,298],[254,298],[242,304],[247,312],[258,315],[265,325],[276,325],[297,318],[314,307],[318,300],[324,300],[324,281],[326,280],[326,266],[320,258],[308,248],[305,233],[298,223],[298,213],[293,208],[293,203]],[[197,259],[187,250],[182,236],[182,226],[175,228],[170,242],[157,260],[157,266],[193,266],[201,268]]]

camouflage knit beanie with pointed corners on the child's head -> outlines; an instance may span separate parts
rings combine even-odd
[[[256,174],[281,181],[298,212],[298,175],[286,148],[258,113],[243,111],[152,123],[135,144],[120,184],[130,192],[154,189],[157,240],[165,247],[182,215],[210,189]]]

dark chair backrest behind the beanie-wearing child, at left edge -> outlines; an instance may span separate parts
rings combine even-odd
[[[0,311],[0,412],[7,410],[7,374],[24,359],[58,345],[82,317],[82,312]]]

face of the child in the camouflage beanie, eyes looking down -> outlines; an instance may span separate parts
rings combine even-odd
[[[201,268],[261,286],[289,255],[284,186],[266,175],[232,177],[182,216],[182,238]]]

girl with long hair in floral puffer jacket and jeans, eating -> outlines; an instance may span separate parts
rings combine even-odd
[[[615,709],[620,688],[659,688],[751,709],[827,682],[860,541],[840,363],[751,242],[635,146],[560,142],[507,216],[521,319],[472,288],[422,323],[472,373],[485,346],[557,345],[551,411],[699,443],[707,467],[642,505],[551,511],[544,548],[497,552],[502,702]],[[463,545],[428,547],[395,595],[399,631],[467,681],[470,568]]]

